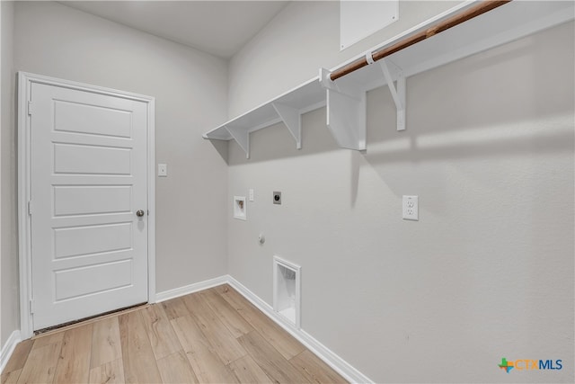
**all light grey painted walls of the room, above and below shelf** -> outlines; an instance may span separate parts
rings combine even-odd
[[[403,24],[341,53],[334,3],[289,4],[230,63],[227,111],[451,5],[404,3]],[[4,19],[3,2],[3,39]],[[303,329],[372,380],[573,381],[573,23],[409,78],[405,132],[388,91],[371,92],[366,153],[337,148],[322,109],[304,116],[302,150],[277,125],[252,134],[250,160],[230,144],[229,169],[201,139],[225,120],[225,62],[60,4],[15,4],[14,25],[14,70],[156,97],[159,291],[229,271],[271,303],[281,255],[303,267]],[[4,111],[2,341],[17,309]],[[248,220],[231,219],[248,188]],[[401,219],[403,194],[420,196],[419,222]],[[504,356],[564,365],[502,376]]]

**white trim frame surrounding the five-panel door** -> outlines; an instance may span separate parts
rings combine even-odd
[[[132,94],[97,85],[88,85],[55,77],[18,72],[18,258],[20,263],[20,332],[22,339],[33,334],[31,318],[31,219],[28,201],[31,199],[31,143],[28,102],[33,83],[105,94],[147,105],[147,296],[155,303],[155,98]]]

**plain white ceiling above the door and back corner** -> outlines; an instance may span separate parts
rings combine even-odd
[[[220,58],[231,58],[288,1],[61,1]]]

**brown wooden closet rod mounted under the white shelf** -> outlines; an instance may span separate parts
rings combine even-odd
[[[473,17],[479,16],[482,13],[486,13],[499,7],[500,5],[507,4],[511,0],[500,0],[500,1],[492,1],[492,0],[483,0],[480,4],[477,4],[468,10],[456,14],[455,16],[443,21],[438,22],[434,26],[430,27],[425,31],[420,31],[419,33],[410,36],[404,40],[401,40],[391,47],[376,50],[375,52],[367,53],[366,56],[371,55],[373,61],[381,60],[389,55],[394,54],[397,51],[410,47],[411,45],[418,43],[422,40],[429,39],[431,36],[434,36],[442,31],[447,31],[451,27],[455,27],[462,22],[466,22],[468,20],[473,19]],[[349,75],[351,72],[357,71],[359,68],[366,67],[369,63],[367,62],[367,58],[358,58],[355,61],[352,61],[347,66],[341,67],[332,72],[330,78],[332,81],[339,79],[342,76]]]

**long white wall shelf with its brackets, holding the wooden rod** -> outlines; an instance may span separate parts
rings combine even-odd
[[[460,4],[427,22],[387,40],[357,58],[393,46],[420,31],[447,20],[476,2]],[[537,31],[574,19],[574,2],[512,1],[483,13],[447,31],[402,49],[385,59],[372,62],[349,75],[332,81],[332,70],[320,69],[320,75],[281,94],[250,112],[204,134],[204,138],[230,140],[234,138],[249,157],[250,132],[283,121],[301,147],[301,114],[327,104],[327,126],[340,147],[366,149],[366,93],[390,85],[397,107],[397,129],[406,127],[404,79],[439,67],[486,49],[517,40]],[[393,82],[393,84],[390,84]]]

